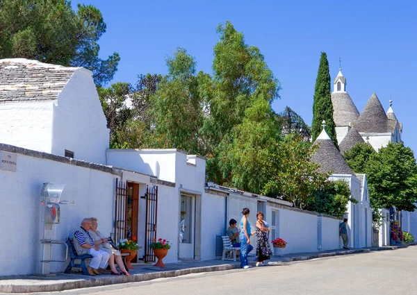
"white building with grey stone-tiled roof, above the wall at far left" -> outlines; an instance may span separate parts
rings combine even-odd
[[[0,60],[0,142],[106,164],[106,128],[92,72]]]

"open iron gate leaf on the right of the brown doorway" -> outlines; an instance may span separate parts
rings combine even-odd
[[[156,239],[156,217],[158,213],[158,187],[146,187],[146,228],[145,228],[145,262],[154,262],[154,251],[149,248]]]

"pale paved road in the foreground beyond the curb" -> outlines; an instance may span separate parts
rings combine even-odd
[[[59,292],[99,295],[417,294],[417,246]],[[55,293],[58,294],[58,293]]]

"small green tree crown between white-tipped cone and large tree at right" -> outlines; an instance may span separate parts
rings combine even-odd
[[[349,151],[346,151],[344,157],[347,165],[349,165],[354,172],[365,174],[369,158],[375,153],[377,152],[370,144],[361,142],[353,146]]]

